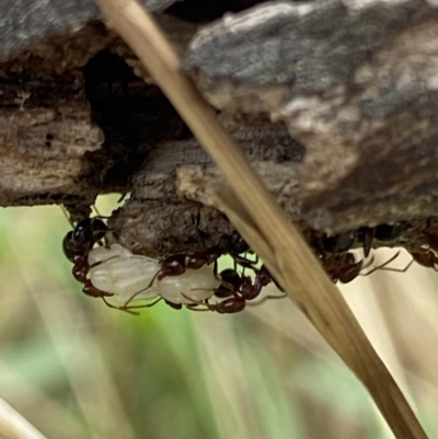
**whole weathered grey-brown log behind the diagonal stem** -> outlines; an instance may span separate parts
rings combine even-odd
[[[217,169],[93,3],[2,1],[0,205],[64,204],[78,220],[99,194],[130,192],[114,236],[158,256],[230,233],[207,190]],[[171,3],[146,2],[304,234],[406,220],[399,244],[428,243],[437,5],[277,1],[200,24]]]

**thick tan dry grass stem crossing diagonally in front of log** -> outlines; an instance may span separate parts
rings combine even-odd
[[[292,300],[365,383],[395,437],[426,438],[337,288],[192,83],[152,18],[134,0],[96,0],[227,177],[223,209]],[[235,195],[234,195],[235,194]]]

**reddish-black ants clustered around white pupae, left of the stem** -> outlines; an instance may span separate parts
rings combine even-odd
[[[110,307],[136,313],[163,300],[174,309],[183,307],[196,311],[216,311],[230,314],[242,311],[247,301],[256,299],[262,289],[275,282],[265,266],[245,256],[250,251],[239,234],[223,235],[217,245],[193,254],[175,254],[158,262],[134,255],[119,244],[95,247],[106,232],[106,224],[99,218],[80,221],[64,239],[66,257],[74,264],[73,277],[83,284],[82,291],[102,300]],[[217,274],[217,262],[230,255],[234,269]],[[251,269],[251,276],[237,270],[237,265]],[[122,305],[108,302],[117,297]],[[210,301],[215,298],[215,302]],[[283,297],[283,296],[281,296]],[[269,297],[267,297],[269,298]],[[148,304],[132,304],[138,299],[157,299]]]

